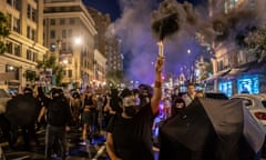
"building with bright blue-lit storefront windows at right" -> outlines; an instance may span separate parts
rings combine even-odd
[[[231,14],[238,9],[255,11],[255,0],[209,0],[209,16],[222,8],[224,14]],[[217,9],[218,8],[218,9]],[[258,93],[265,91],[265,76],[262,71],[254,71],[255,63],[262,63],[253,49],[241,48],[232,41],[222,41],[213,44],[215,59],[213,59],[214,76],[207,80],[213,81],[214,90],[232,96],[234,93]]]

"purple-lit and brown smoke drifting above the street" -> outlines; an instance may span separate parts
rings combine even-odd
[[[152,83],[153,68],[156,59],[157,32],[152,23],[165,14],[178,14],[178,30],[164,40],[165,74],[177,76],[181,68],[190,68],[198,58],[202,47],[198,43],[211,43],[213,40],[228,40],[236,32],[249,24],[260,24],[265,21],[265,0],[257,0],[256,12],[243,3],[237,12],[221,13],[215,9],[212,19],[206,19],[206,8],[193,8],[191,3],[178,3],[165,0],[157,4],[156,0],[121,0],[123,14],[110,27],[122,41],[122,53],[125,57],[125,74],[134,81]],[[197,40],[196,40],[197,36]],[[191,53],[187,53],[191,50]]]

